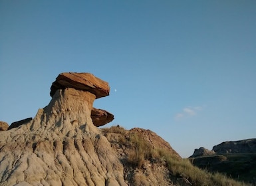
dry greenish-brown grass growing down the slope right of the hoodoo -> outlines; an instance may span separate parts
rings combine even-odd
[[[126,134],[124,128],[121,127],[111,127],[105,132],[114,132],[118,134]],[[122,144],[126,143],[126,146],[130,148],[128,153],[127,161],[128,163],[141,168],[146,160],[152,158],[158,159],[159,161],[164,160],[166,162],[166,167],[168,167],[170,173],[176,177],[184,177],[192,185],[223,185],[223,186],[240,186],[245,185],[226,177],[221,173],[209,173],[208,171],[199,169],[192,165],[189,159],[179,159],[170,151],[163,149],[153,149],[144,140],[142,135],[132,133],[128,138],[120,138]]]

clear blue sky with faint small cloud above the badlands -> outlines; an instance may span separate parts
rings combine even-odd
[[[256,138],[256,1],[0,0],[0,120],[35,117],[61,72],[106,80],[107,126],[182,157]]]

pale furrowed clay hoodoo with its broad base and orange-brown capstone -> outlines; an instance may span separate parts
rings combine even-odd
[[[72,84],[61,78],[33,120],[1,132],[1,185],[127,185],[124,167],[90,117],[94,99],[109,87],[89,77],[85,89],[67,88]]]

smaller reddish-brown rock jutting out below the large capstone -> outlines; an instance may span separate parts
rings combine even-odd
[[[114,120],[114,115],[110,112],[102,109],[92,108],[92,114],[90,115],[92,118],[92,123],[94,126],[104,126],[109,122]]]

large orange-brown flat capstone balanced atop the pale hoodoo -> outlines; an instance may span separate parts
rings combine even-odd
[[[108,96],[110,92],[108,82],[90,73],[63,72],[59,74],[51,86],[50,95],[53,97],[57,90],[64,88],[88,91],[94,94],[96,99]]]

